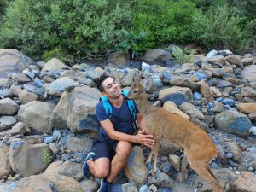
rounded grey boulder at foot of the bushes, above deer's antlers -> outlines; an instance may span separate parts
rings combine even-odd
[[[166,61],[172,60],[172,54],[164,49],[149,49],[143,56],[143,61],[148,64],[166,66]]]

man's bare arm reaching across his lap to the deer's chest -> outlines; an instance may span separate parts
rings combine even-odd
[[[122,140],[128,141],[132,143],[140,143],[148,148],[153,148],[154,139],[152,135],[144,134],[145,131],[139,131],[137,135],[129,135],[123,132],[115,131],[113,128],[113,124],[109,119],[100,121],[103,129],[108,133],[108,136],[113,140]]]

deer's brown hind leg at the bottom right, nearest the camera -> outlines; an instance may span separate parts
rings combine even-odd
[[[196,162],[196,164],[189,162],[189,164],[203,180],[212,186],[213,192],[224,192],[224,189],[218,182],[218,179],[213,175],[209,166],[205,162]]]

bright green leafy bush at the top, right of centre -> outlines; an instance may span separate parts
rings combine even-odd
[[[189,42],[189,25],[197,12],[195,3],[188,0],[137,0],[133,6],[132,30],[138,38],[134,49],[139,51],[158,44]]]

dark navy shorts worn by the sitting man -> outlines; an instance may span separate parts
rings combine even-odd
[[[111,161],[115,154],[115,149],[118,142],[119,141],[113,140],[110,137],[96,137],[93,140],[92,151],[96,154],[93,161],[102,157],[106,157]]]

